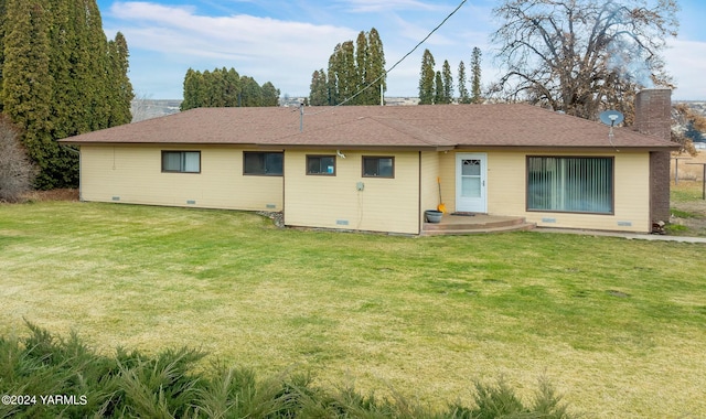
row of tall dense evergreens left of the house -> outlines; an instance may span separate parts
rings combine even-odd
[[[76,186],[78,153],[55,140],[130,121],[122,34],[95,0],[0,1],[0,106],[22,131],[41,189]]]

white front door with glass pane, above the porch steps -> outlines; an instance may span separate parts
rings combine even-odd
[[[484,153],[456,154],[456,211],[488,212],[486,161]]]

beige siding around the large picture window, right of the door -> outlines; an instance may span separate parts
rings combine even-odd
[[[650,158],[646,152],[619,152],[614,160],[614,215],[539,213],[526,211],[526,155],[543,152],[490,152],[488,154],[488,212],[525,216],[542,227],[640,232],[652,228],[650,219]],[[610,153],[552,153],[552,155],[599,155]]]

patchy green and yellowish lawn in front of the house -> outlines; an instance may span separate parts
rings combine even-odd
[[[0,333],[184,345],[439,405],[546,376],[589,417],[706,416],[705,245],[277,229],[255,214],[0,205]]]

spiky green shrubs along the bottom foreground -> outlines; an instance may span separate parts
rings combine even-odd
[[[353,387],[317,387],[310,375],[258,379],[245,367],[212,364],[194,373],[205,354],[181,348],[154,356],[118,348],[97,355],[75,333],[66,340],[28,323],[24,339],[0,337],[0,395],[35,395],[30,405],[0,405],[0,418],[548,418],[568,419],[554,388],[539,382],[525,405],[502,379],[475,384],[475,406],[434,411],[393,391],[392,398]],[[66,395],[46,404],[40,396]]]

